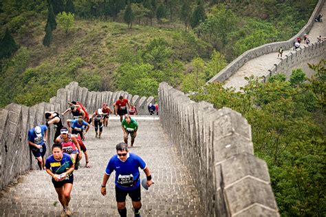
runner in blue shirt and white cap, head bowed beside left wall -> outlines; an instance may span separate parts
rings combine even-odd
[[[47,141],[47,126],[39,125],[28,131],[28,145],[32,154],[37,160],[37,164],[42,170],[45,164],[44,155],[46,152],[45,142]]]

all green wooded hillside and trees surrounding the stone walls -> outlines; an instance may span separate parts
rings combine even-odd
[[[206,85],[237,56],[284,41],[317,0],[0,1],[0,107],[49,101],[71,81],[155,96],[160,82],[230,107],[252,125],[281,216],[325,216],[325,61],[242,92]],[[324,120],[324,121],[323,121]]]

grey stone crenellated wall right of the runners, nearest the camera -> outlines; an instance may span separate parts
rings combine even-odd
[[[160,121],[191,172],[203,216],[279,216],[265,161],[254,156],[251,127],[238,112],[191,101],[159,87]]]

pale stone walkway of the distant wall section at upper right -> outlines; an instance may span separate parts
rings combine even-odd
[[[326,2],[323,5],[322,10],[320,10],[320,14],[326,14]],[[314,22],[312,29],[308,33],[308,37],[311,43],[317,42],[318,36],[326,37],[326,21],[323,22]],[[301,43],[301,48],[306,46],[304,43]],[[293,48],[290,50],[284,50],[283,58],[285,55],[290,54],[290,52],[294,52]],[[270,70],[273,65],[279,63],[281,59],[277,57],[277,52],[265,54],[259,56],[255,59],[252,59],[245,63],[235,74],[230,76],[224,84],[224,87],[235,87],[236,90],[240,90],[240,87],[245,86],[248,81],[244,78],[249,77],[252,74],[254,76],[263,76],[268,70]]]

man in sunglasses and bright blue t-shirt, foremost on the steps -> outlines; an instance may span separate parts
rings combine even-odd
[[[140,202],[140,173],[138,167],[144,170],[146,174],[147,186],[153,184],[151,178],[151,172],[149,167],[140,156],[136,154],[129,153],[128,145],[126,143],[118,143],[116,145],[117,154],[110,158],[107,168],[105,169],[105,174],[103,176],[102,185],[100,192],[103,196],[107,194],[107,180],[109,179],[113,170],[116,171],[116,201],[118,212],[120,216],[127,216],[126,209],[126,196],[129,194],[133,203],[133,209],[135,216],[140,216],[140,208],[142,203]]]

